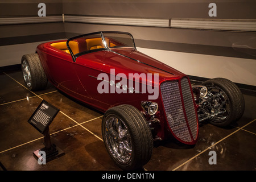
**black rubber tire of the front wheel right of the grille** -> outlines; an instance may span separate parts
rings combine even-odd
[[[213,125],[225,127],[230,124],[236,123],[238,119],[240,119],[245,111],[245,100],[243,98],[243,94],[241,90],[238,88],[236,84],[226,78],[213,78],[203,82],[204,86],[207,86],[208,92],[212,88],[217,88],[224,92],[228,99],[226,102],[229,104],[229,113],[225,119],[220,121],[209,118],[209,122]]]

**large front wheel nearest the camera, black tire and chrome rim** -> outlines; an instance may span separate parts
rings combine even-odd
[[[118,133],[117,129],[114,129],[114,127],[110,128],[109,120],[112,119],[113,122],[114,119],[116,119],[118,125],[122,125],[122,128],[127,129],[129,135],[123,134],[126,138],[120,137],[121,133],[127,132],[126,130],[122,130],[122,132]],[[126,127],[123,126],[122,123]],[[118,129],[119,128],[121,127],[118,127]],[[107,110],[102,119],[102,136],[109,155],[114,160],[115,164],[123,170],[142,168],[151,158],[153,148],[152,134],[146,119],[134,106],[119,105]],[[120,142],[122,139],[125,140],[125,142]],[[125,156],[125,161],[120,159],[119,155],[117,155],[118,151],[123,151],[123,148],[121,148],[122,144],[119,144],[118,148],[115,148],[115,143],[118,143],[118,140],[122,144],[125,143],[123,144],[126,146],[125,150],[130,147],[127,151],[130,152],[131,150],[131,152],[127,155],[123,155]],[[118,151],[115,152],[113,148]],[[124,153],[127,153],[127,151]]]

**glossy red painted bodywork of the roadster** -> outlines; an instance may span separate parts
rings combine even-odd
[[[67,40],[57,42],[63,41],[66,42]],[[181,80],[181,78],[185,76],[184,73],[181,73],[176,69],[153,59],[152,57],[144,55],[135,48],[113,48],[111,51],[100,50],[90,52],[77,57],[77,59],[73,61],[71,54],[52,47],[52,43],[56,42],[43,43],[36,48],[36,52],[39,54],[48,80],[51,81],[56,88],[60,89],[64,93],[67,93],[69,96],[72,96],[76,100],[84,102],[85,104],[93,106],[103,112],[108,110],[110,107],[120,104],[130,104],[142,111],[141,102],[148,100],[148,94],[100,94],[97,90],[98,84],[102,81],[97,79],[100,73],[106,73],[109,78],[115,77],[115,75],[118,73],[125,74],[127,78],[129,77],[129,73],[138,73],[139,75],[141,73],[158,73],[159,97],[156,100],[152,100],[157,102],[159,106],[159,111],[155,114],[155,117],[159,118],[160,120],[159,125],[155,127],[157,133],[156,135],[162,139],[165,139],[168,135],[170,135],[170,133],[174,135],[168,126],[159,88],[163,81]],[[138,62],[137,60],[143,63]],[[110,69],[114,69],[115,75],[110,75]],[[110,79],[106,81],[110,81]],[[142,80],[140,81],[140,84],[143,84]],[[154,84],[154,81],[152,84]],[[175,135],[174,137],[180,142],[186,144],[196,143],[196,139],[192,142],[184,142]]]

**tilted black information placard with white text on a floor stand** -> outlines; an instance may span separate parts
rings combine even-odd
[[[60,110],[55,106],[49,104],[47,101],[43,100],[38,108],[28,119],[28,123],[35,127],[40,133],[44,133],[47,126],[49,126]]]

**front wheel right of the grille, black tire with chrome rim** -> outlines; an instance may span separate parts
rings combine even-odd
[[[213,78],[203,85],[207,87],[208,94],[201,109],[210,116],[210,123],[225,127],[242,117],[245,100],[237,85],[226,78]]]

